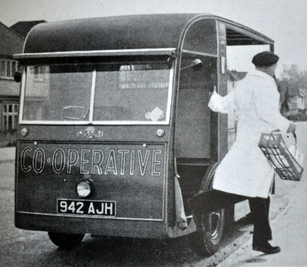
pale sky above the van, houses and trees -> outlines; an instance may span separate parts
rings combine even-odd
[[[277,77],[283,66],[307,70],[307,0],[0,0],[0,21],[61,21],[148,13],[211,13],[250,27],[275,41],[279,55]],[[260,50],[259,50],[260,49]],[[228,68],[252,68],[259,51],[229,50]]]

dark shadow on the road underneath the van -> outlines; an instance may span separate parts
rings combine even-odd
[[[221,249],[250,231],[246,219],[228,225]],[[242,227],[244,230],[242,230]],[[55,248],[40,260],[41,266],[192,266],[199,262],[189,244],[189,236],[169,240],[90,237],[74,250]],[[239,244],[237,244],[239,246]],[[208,265],[218,254],[208,257]],[[204,258],[205,259],[205,258]],[[206,265],[204,265],[206,266]]]

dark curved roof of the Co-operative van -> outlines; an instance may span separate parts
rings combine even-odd
[[[274,44],[259,32],[210,14],[150,14],[41,23],[29,32],[23,52],[180,48],[187,29],[201,19],[226,22],[227,44]]]

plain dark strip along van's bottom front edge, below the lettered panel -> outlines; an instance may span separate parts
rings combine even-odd
[[[17,228],[102,236],[168,238],[165,221],[116,220],[15,212]]]

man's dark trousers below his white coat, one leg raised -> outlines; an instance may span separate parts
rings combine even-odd
[[[227,208],[245,199],[248,199],[254,223],[253,244],[259,245],[271,240],[272,232],[269,222],[270,197],[247,198],[246,196],[239,196],[219,190],[211,190],[197,194],[194,198],[189,200],[189,204],[197,214],[197,211],[208,213],[215,209]]]

